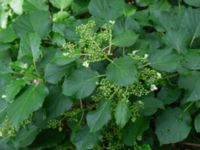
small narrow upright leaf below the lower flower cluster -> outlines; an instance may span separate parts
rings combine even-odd
[[[130,118],[130,110],[126,101],[119,101],[115,109],[116,124],[123,128]]]

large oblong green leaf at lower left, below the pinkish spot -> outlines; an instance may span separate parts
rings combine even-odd
[[[7,115],[14,126],[18,126],[27,119],[31,113],[38,110],[48,95],[48,91],[43,84],[32,85],[22,93],[7,108]]]

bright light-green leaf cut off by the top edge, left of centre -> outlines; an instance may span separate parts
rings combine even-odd
[[[63,10],[66,7],[69,7],[73,2],[73,0],[50,0],[50,2],[54,7]]]

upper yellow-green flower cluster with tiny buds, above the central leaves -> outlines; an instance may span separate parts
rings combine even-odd
[[[95,27],[93,20],[78,26],[76,32],[80,35],[79,41],[76,44],[66,43],[63,55],[71,58],[82,56],[84,63],[87,64],[104,60],[110,55],[110,50],[107,51],[110,47],[107,45],[111,45],[112,24],[105,24],[98,32],[95,31]]]

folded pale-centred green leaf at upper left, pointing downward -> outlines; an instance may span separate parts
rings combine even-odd
[[[35,33],[29,33],[23,36],[20,41],[18,58],[21,59],[24,56],[28,56],[33,58],[33,62],[36,62],[42,55],[40,44],[41,39]]]

